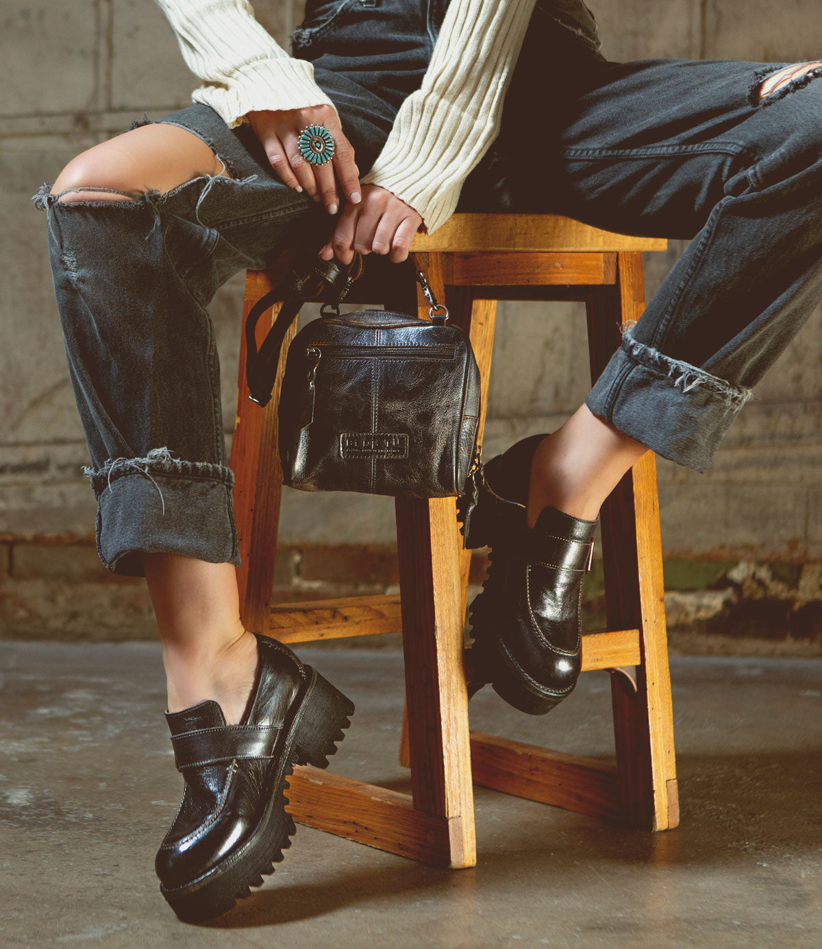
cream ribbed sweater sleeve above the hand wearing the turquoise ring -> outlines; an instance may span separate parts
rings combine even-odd
[[[335,108],[314,82],[314,66],[278,46],[254,19],[247,0],[156,3],[174,30],[186,65],[204,80],[192,92],[192,101],[210,105],[229,128],[258,109]]]

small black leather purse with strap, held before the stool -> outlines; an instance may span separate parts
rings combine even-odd
[[[398,266],[398,265],[393,265]],[[265,405],[285,332],[312,287],[330,285],[335,303],[291,343],[280,397],[283,483],[301,491],[357,491],[396,497],[462,495],[479,465],[480,373],[470,340],[448,324],[425,275],[429,320],[339,304],[362,270],[320,261],[296,277],[259,350],[255,326],[283,298],[267,293],[246,322],[249,398]]]

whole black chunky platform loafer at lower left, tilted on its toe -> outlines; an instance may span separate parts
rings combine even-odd
[[[257,677],[239,725],[227,725],[213,700],[166,713],[185,788],[155,871],[186,922],[225,913],[274,871],[295,831],[285,812],[288,775],[295,763],[327,767],[354,714],[283,643],[257,642]]]

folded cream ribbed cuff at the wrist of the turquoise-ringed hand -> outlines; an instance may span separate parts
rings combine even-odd
[[[312,105],[337,108],[314,82],[314,66],[290,56],[255,60],[238,66],[225,85],[202,85],[193,102],[210,105],[228,128],[247,121],[247,112],[263,109],[303,109]]]

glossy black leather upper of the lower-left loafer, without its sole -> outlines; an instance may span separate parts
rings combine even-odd
[[[166,713],[181,759],[178,770],[185,778],[180,807],[155,858],[156,874],[167,890],[192,883],[244,845],[283,765],[279,736],[305,685],[306,671],[282,643],[262,636],[257,640],[257,678],[240,725],[227,726],[212,700]],[[232,733],[240,733],[235,747],[240,754],[253,753],[256,744],[265,756],[228,756]],[[214,751],[222,754],[209,754]],[[207,763],[198,764],[201,758]]]

